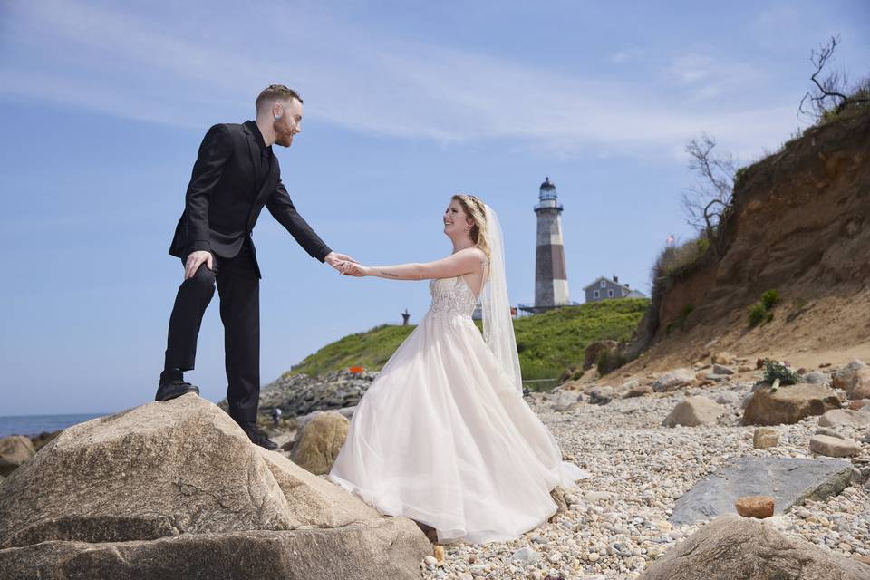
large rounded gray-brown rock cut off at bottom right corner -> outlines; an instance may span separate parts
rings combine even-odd
[[[641,580],[867,580],[870,565],[827,554],[763,520],[723,516],[656,560]]]

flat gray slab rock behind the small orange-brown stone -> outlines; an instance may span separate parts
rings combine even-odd
[[[677,499],[671,522],[681,526],[733,514],[734,502],[746,496],[773,497],[781,514],[804,499],[838,494],[851,472],[843,459],[740,458]]]

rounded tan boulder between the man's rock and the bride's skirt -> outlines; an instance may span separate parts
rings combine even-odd
[[[342,450],[351,422],[334,411],[321,411],[304,424],[290,459],[314,475],[324,475],[333,469],[333,462]]]

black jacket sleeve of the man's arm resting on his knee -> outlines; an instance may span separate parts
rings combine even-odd
[[[214,125],[199,145],[197,161],[193,164],[193,173],[185,195],[189,243],[193,252],[211,249],[211,238],[208,236],[208,198],[232,155],[233,141],[227,127]]]

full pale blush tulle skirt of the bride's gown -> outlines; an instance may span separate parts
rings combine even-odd
[[[362,396],[328,478],[440,542],[507,541],[589,477],[509,386],[469,318],[427,315]]]

